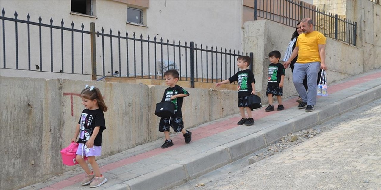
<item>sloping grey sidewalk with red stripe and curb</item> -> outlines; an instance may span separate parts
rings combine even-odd
[[[237,125],[240,115],[205,123],[192,131],[192,142],[182,134],[171,136],[174,146],[161,149],[163,139],[134,147],[98,160],[108,181],[107,190],[159,190],[180,185],[238,160],[279,140],[293,131],[312,127],[381,97],[381,69],[330,84],[328,97],[319,97],[315,110],[297,109],[296,97],[283,101],[285,110],[253,111],[255,124]],[[24,189],[90,189],[79,182],[82,168],[52,177]]]

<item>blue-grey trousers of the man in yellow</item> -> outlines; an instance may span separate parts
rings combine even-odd
[[[292,73],[292,81],[299,96],[307,105],[316,105],[317,74],[320,70],[320,62],[295,63]],[[303,79],[307,75],[308,93],[303,86]]]

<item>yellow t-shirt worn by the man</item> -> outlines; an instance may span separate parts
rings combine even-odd
[[[325,36],[322,33],[314,31],[300,34],[296,40],[296,47],[299,47],[296,63],[321,62],[317,44],[325,44]]]

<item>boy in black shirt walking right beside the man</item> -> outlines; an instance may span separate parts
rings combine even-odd
[[[269,98],[269,106],[265,111],[274,111],[274,105],[272,105],[272,97],[277,96],[278,108],[277,111],[282,111],[284,108],[282,104],[283,95],[283,80],[285,77],[285,68],[279,63],[280,52],[272,51],[269,53],[270,65],[269,65],[269,78],[267,81],[266,95]]]

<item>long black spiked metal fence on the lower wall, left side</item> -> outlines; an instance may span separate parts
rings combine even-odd
[[[29,70],[51,73],[70,73],[91,75],[93,80],[106,76],[163,79],[168,69],[179,71],[180,80],[194,82],[223,81],[233,74],[235,60],[240,55],[249,55],[243,51],[197,44],[193,41],[143,39],[135,33],[115,32],[110,29],[95,31],[95,24],[90,23],[90,31],[85,25],[71,22],[71,27],[43,24],[5,17],[2,10],[2,68]],[[20,53],[21,52],[21,53]],[[27,53],[24,53],[27,52]],[[98,63],[98,64],[97,64]],[[35,68],[34,68],[35,67]]]

